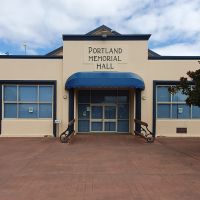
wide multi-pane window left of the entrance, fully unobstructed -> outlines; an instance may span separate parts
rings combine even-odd
[[[4,85],[4,118],[52,118],[53,86]]]

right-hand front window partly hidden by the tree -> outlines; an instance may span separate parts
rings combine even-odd
[[[181,91],[170,94],[169,86],[157,86],[158,119],[200,119],[200,108],[186,104],[186,95]]]

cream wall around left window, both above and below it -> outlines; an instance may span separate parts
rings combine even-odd
[[[0,80],[56,80],[57,118],[62,119],[62,59],[0,59]],[[1,136],[53,135],[53,120],[2,119]]]

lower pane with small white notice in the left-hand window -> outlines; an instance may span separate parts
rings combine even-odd
[[[19,104],[19,118],[37,118],[37,104]]]

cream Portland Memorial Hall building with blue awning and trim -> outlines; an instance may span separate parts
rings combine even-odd
[[[134,133],[137,118],[155,136],[199,137],[200,108],[168,86],[200,56],[158,55],[149,38],[101,26],[45,56],[0,56],[1,136],[58,136],[73,118],[77,133]]]

